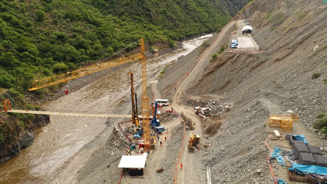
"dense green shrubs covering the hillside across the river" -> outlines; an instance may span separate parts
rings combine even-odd
[[[112,56],[144,38],[150,47],[220,30],[248,0],[149,1],[44,0],[0,2],[0,86],[12,105],[23,107],[34,80]],[[129,55],[138,44],[128,47]],[[60,85],[34,92],[41,98]],[[14,95],[14,96],[12,96]],[[3,98],[4,97],[4,98]],[[18,98],[18,100],[16,99]]]

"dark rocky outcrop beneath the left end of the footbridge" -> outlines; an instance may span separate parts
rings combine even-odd
[[[21,149],[32,145],[35,129],[50,123],[49,115],[35,115],[35,119],[0,115],[0,163],[21,153]]]

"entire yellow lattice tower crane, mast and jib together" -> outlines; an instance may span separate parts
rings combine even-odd
[[[68,82],[69,80],[76,79],[89,75],[91,73],[101,71],[103,69],[111,68],[120,64],[131,62],[137,59],[141,59],[141,71],[142,71],[142,116],[143,116],[143,139],[144,139],[144,151],[150,151],[150,120],[149,120],[149,98],[147,89],[147,60],[146,60],[146,48],[144,47],[144,40],[139,40],[141,47],[140,53],[132,56],[116,59],[113,61],[107,61],[108,58],[101,61],[99,64],[92,65],[90,67],[82,68],[79,70],[67,72],[58,76],[49,77],[42,80],[34,81],[29,87],[29,91],[45,88],[54,84]]]

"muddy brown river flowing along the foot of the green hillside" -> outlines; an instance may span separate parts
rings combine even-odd
[[[164,66],[174,63],[200,46],[211,34],[183,42],[183,48],[147,60],[147,77],[152,77]],[[69,113],[113,114],[123,100],[130,96],[129,69],[134,85],[141,84],[140,62],[129,68],[108,73],[76,93],[41,104],[47,111]],[[106,126],[106,118],[50,116],[50,122],[35,133],[33,144],[21,154],[0,164],[1,183],[42,183],[83,145],[92,140]]]

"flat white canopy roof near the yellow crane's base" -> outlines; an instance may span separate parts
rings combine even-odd
[[[118,168],[144,168],[146,166],[147,153],[142,156],[123,155]]]

